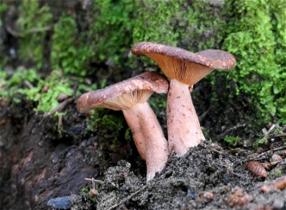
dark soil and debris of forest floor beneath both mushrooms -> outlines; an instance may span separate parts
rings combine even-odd
[[[101,132],[86,137],[85,116],[74,105],[67,106],[59,138],[57,118],[35,115],[28,102],[10,106],[1,99],[1,209],[52,209],[48,201],[64,196],[68,209],[286,209],[285,127],[258,148],[205,141],[171,156],[146,183],[133,142],[99,146]],[[257,175],[250,172],[251,161],[262,163],[267,177],[257,176],[260,166]]]

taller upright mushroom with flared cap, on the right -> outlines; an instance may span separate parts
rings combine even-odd
[[[236,59],[222,50],[193,53],[151,42],[137,43],[131,52],[150,57],[171,79],[166,111],[169,151],[174,151],[179,156],[184,155],[190,147],[205,140],[190,96],[192,85],[213,69],[233,68]]]

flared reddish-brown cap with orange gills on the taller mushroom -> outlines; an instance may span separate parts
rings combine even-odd
[[[234,56],[222,50],[193,53],[169,45],[140,42],[131,48],[131,52],[150,57],[168,78],[189,85],[194,85],[213,69],[231,69],[236,65]]]

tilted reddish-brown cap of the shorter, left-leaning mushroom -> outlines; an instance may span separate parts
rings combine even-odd
[[[169,84],[163,76],[146,71],[104,89],[86,92],[78,99],[77,109],[84,113],[90,113],[96,107],[118,111],[148,101],[153,92],[167,93],[168,89]]]

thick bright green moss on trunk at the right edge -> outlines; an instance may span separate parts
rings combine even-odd
[[[229,34],[223,44],[238,61],[228,79],[235,81],[236,94],[250,95],[250,103],[257,109],[257,123],[269,122],[273,116],[281,122],[286,120],[286,56],[282,53],[285,7],[270,7],[272,2],[230,1],[236,16],[229,22]]]

